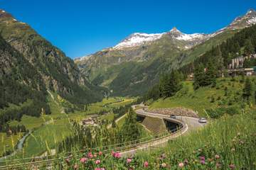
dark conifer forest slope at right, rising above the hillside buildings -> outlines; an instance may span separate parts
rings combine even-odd
[[[198,64],[207,64],[214,61],[218,69],[228,68],[231,60],[235,57],[253,55],[256,52],[256,26],[251,26],[236,33],[232,38],[228,38],[220,45],[213,47],[196,60],[182,67],[180,70],[186,74],[193,72]],[[253,61],[245,61],[245,67],[254,66]]]

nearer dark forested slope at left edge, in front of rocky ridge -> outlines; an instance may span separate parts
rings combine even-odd
[[[0,131],[23,114],[49,114],[46,86],[41,74],[0,36]]]

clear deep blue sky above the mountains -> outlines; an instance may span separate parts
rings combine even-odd
[[[112,47],[134,32],[212,33],[255,0],[0,0],[0,8],[75,58]]]

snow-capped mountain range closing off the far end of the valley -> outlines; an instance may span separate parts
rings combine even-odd
[[[134,33],[114,47],[78,58],[82,74],[93,84],[106,86],[113,95],[138,95],[157,81],[159,74],[178,69],[256,23],[248,11],[229,26],[212,34],[185,34],[173,28],[168,33]]]

